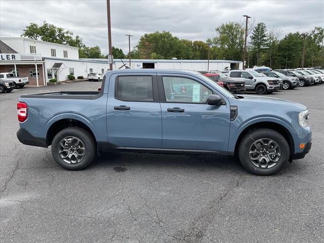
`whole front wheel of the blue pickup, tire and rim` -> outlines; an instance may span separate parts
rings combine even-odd
[[[287,140],[271,129],[252,130],[242,138],[238,158],[252,174],[269,176],[277,173],[288,161]]]

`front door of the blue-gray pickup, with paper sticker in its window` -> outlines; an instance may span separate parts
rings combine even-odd
[[[230,109],[211,106],[213,93],[204,82],[189,75],[158,74],[161,99],[162,148],[227,151]]]

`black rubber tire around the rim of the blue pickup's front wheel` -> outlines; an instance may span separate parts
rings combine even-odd
[[[256,141],[261,139],[274,141],[280,149],[279,151],[281,156],[278,158],[276,163],[272,163],[274,166],[271,168],[259,168],[252,163],[252,160],[250,160],[250,149]],[[264,155],[263,153],[260,154],[262,155],[259,156],[267,156],[267,153],[264,153]],[[247,171],[255,175],[269,176],[277,173],[287,163],[289,156],[290,148],[287,140],[281,134],[272,129],[261,128],[252,130],[242,138],[238,145],[238,158],[240,163]]]

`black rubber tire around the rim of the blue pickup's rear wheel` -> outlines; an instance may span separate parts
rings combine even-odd
[[[76,164],[68,164],[66,161],[63,160],[63,158],[59,154],[59,144],[61,140],[63,140],[66,137],[75,137],[79,139],[84,145],[85,155],[82,158],[82,160],[80,160]],[[60,131],[54,137],[52,141],[52,155],[57,164],[63,167],[64,169],[70,171],[83,170],[86,167],[88,167],[96,157],[96,142],[93,136],[85,129],[77,127],[66,128]]]

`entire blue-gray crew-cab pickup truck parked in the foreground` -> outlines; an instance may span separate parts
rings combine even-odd
[[[22,95],[17,137],[48,147],[68,170],[109,151],[236,155],[251,173],[272,175],[311,148],[307,107],[233,95],[194,71],[125,69],[98,92]]]

